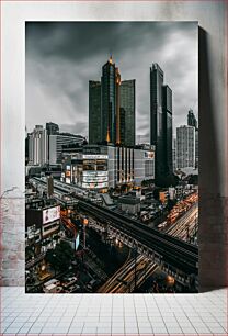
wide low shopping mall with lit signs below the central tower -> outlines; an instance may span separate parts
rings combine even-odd
[[[140,186],[145,179],[155,179],[155,148],[87,145],[78,155],[68,156],[62,167],[66,182],[87,189]]]

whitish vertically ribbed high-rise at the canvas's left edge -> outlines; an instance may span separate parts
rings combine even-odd
[[[29,133],[29,165],[43,166],[47,163],[47,131],[42,125],[36,125]]]

